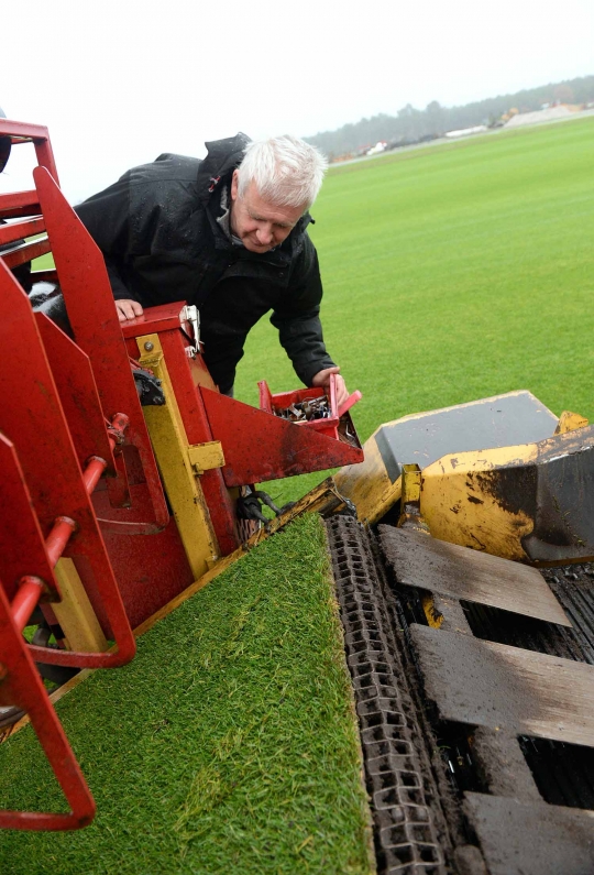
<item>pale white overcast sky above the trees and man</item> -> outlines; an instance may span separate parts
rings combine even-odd
[[[404,105],[594,74],[594,0],[12,0],[0,107],[46,124],[76,203],[161,152],[307,136]],[[0,190],[29,188],[13,149]]]

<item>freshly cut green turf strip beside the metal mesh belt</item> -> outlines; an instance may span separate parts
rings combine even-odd
[[[369,809],[320,519],[233,565],[57,706],[98,805],[76,833],[0,834],[9,873],[370,873]],[[31,728],[0,803],[64,810]]]

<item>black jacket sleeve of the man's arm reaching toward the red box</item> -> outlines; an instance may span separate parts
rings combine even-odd
[[[271,322],[278,329],[280,343],[293,362],[295,373],[306,386],[311,385],[318,371],[334,364],[323,342],[319,316],[321,297],[318,255],[309,238],[306,238],[286,299],[271,316]]]

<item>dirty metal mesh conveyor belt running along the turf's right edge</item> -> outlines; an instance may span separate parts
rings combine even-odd
[[[378,873],[446,875],[451,872],[443,850],[449,842],[438,791],[391,641],[369,538],[349,517],[334,516],[326,525],[361,726]]]

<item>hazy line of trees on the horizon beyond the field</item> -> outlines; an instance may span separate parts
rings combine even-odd
[[[443,107],[432,100],[425,109],[410,103],[396,116],[381,112],[355,123],[343,124],[336,131],[322,131],[306,136],[308,143],[318,146],[330,160],[361,153],[362,150],[385,141],[391,146],[418,143],[447,131],[472,128],[477,124],[493,127],[512,108],[519,112],[538,110],[549,103],[590,103],[594,101],[594,76],[582,76],[562,83],[549,83],[513,95],[499,95],[463,107]]]

